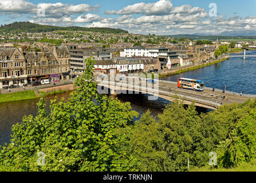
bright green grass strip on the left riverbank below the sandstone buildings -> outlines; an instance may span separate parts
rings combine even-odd
[[[33,90],[27,90],[15,93],[0,94],[0,103],[22,101],[37,98]]]

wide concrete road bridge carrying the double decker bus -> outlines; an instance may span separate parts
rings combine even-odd
[[[149,94],[151,100],[156,100],[157,97],[164,98],[168,101],[180,100],[185,105],[191,105],[208,109],[217,109],[224,104],[238,103],[242,104],[249,98],[253,99],[256,95],[242,94],[224,91],[220,89],[212,89],[204,87],[203,92],[194,90],[180,89],[177,87],[177,82],[166,81],[163,79],[154,79],[155,84],[147,83],[145,78],[127,78],[125,81],[111,79],[97,79],[98,92],[106,94]],[[103,88],[105,88],[103,90]],[[107,88],[107,90],[106,90]],[[153,98],[155,96],[156,98]],[[225,96],[225,97],[223,97]]]

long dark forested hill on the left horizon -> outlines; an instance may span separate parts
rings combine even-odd
[[[100,32],[100,33],[128,33],[126,30],[122,29],[112,29],[108,27],[79,27],[79,26],[71,26],[71,27],[59,27],[59,26],[50,26],[50,25],[38,25],[36,23],[30,22],[14,22],[8,25],[2,25],[0,27],[0,31],[25,31],[30,33],[41,33],[41,32],[49,32],[56,30],[69,30],[69,31],[92,31],[92,32]]]

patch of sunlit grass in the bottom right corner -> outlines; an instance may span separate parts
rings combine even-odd
[[[194,168],[190,172],[256,172],[256,159],[250,162],[239,165],[235,168],[212,168],[211,166],[205,166],[203,168]]]

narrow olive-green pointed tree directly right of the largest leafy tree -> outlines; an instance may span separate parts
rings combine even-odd
[[[163,171],[166,152],[159,146],[162,141],[157,123],[149,110],[137,121],[131,136],[131,152],[139,161],[139,170]]]

